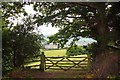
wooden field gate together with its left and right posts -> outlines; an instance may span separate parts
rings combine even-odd
[[[46,57],[44,53],[40,55],[40,70],[89,70],[90,69],[90,55],[87,56],[64,56],[64,57]],[[31,66],[31,67],[34,67]]]

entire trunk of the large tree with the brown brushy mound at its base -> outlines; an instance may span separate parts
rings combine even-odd
[[[106,25],[105,6],[100,7],[98,12],[98,25],[96,27],[98,47],[96,49],[97,53],[95,53],[92,73],[97,78],[106,78],[109,75],[118,75],[118,55],[107,48],[107,44],[109,43],[109,29]]]

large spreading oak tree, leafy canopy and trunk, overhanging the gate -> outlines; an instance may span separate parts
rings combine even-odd
[[[71,38],[73,38],[71,43],[73,45],[81,36],[97,40],[97,44],[93,48],[93,53],[97,55],[95,57],[95,65],[99,64],[98,66],[101,67],[97,68],[99,70],[97,71],[99,72],[97,76],[108,76],[110,70],[106,70],[105,74],[102,74],[102,71],[105,71],[103,67],[105,67],[104,63],[106,61],[104,60],[106,57],[109,60],[110,56],[108,54],[110,52],[114,54],[116,50],[119,52],[119,3],[45,2],[36,3],[34,9],[40,12],[40,14],[35,16],[35,18],[38,18],[36,20],[38,25],[42,25],[41,22],[43,24],[50,23],[52,26],[60,28],[58,33],[49,37],[50,42],[59,43],[60,47],[63,47]],[[108,45],[112,46],[112,49]],[[108,63],[107,65],[110,66],[110,64]],[[118,68],[115,69],[117,71]]]

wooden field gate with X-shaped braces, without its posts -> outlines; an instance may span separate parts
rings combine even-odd
[[[81,59],[81,60],[80,60]],[[87,57],[45,57],[45,70],[87,69]]]

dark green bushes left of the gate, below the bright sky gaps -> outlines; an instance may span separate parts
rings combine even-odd
[[[40,48],[42,46],[41,35],[33,32],[27,34],[13,32],[4,28],[2,34],[3,70],[6,70],[6,68],[8,70],[9,67],[13,67],[15,65],[23,65],[25,60],[29,60],[34,58],[33,56],[40,54]]]

